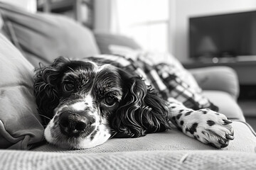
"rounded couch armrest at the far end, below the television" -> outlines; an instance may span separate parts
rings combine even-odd
[[[233,96],[235,100],[239,95],[239,81],[235,70],[226,67],[203,67],[197,69],[188,69],[195,77],[198,85],[203,90],[226,91]]]

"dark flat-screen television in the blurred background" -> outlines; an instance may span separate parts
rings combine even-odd
[[[256,60],[256,11],[189,18],[194,60]]]

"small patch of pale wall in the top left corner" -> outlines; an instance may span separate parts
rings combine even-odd
[[[36,12],[36,0],[0,0],[9,4],[20,6],[25,8],[27,11]]]

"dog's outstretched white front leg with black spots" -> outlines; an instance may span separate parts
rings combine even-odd
[[[220,148],[227,147],[234,139],[232,122],[221,113],[208,108],[193,111],[175,99],[168,102],[168,107],[171,122],[196,140]]]

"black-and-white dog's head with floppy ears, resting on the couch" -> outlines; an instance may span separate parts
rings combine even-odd
[[[59,57],[34,84],[48,142],[84,149],[169,128],[164,102],[139,77],[112,64]]]

